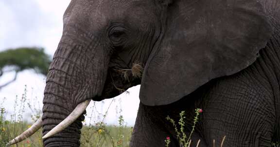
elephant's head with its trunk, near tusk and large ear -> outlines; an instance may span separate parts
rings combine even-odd
[[[63,21],[44,91],[46,147],[80,145],[90,100],[141,84],[141,103],[174,103],[249,66],[273,31],[258,0],[72,0]]]

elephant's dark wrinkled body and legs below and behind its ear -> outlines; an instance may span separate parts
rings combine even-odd
[[[280,141],[280,33],[276,33],[259,58],[246,69],[216,78],[181,100],[163,106],[140,103],[130,147],[179,147],[174,126],[185,111],[186,134],[190,134],[195,108],[203,112],[192,134],[196,147],[271,147]],[[144,123],[143,123],[144,122]],[[177,124],[179,128],[179,124]]]

